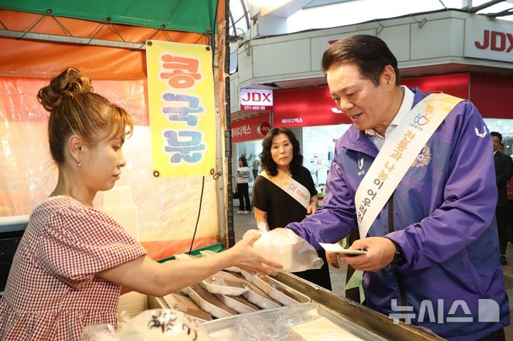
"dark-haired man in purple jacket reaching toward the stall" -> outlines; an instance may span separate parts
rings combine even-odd
[[[358,186],[393,130],[427,96],[400,86],[397,60],[375,36],[333,43],[322,68],[353,126],[336,142],[323,209],[286,226],[316,248],[358,231]],[[509,305],[487,127],[477,108],[461,101],[420,147],[366,236],[351,245],[368,252],[338,257],[363,271],[368,307],[447,340],[504,340]]]

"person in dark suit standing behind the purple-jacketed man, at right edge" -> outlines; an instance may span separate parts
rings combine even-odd
[[[512,158],[499,151],[502,143],[502,134],[499,132],[490,132],[492,135],[495,181],[497,182],[497,206],[495,208],[495,217],[497,219],[497,230],[499,231],[500,262],[503,266],[507,265],[506,249],[508,243],[508,197],[506,183],[513,175]]]

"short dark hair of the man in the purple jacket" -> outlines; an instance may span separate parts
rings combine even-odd
[[[321,67],[326,73],[332,66],[344,63],[358,66],[363,78],[371,80],[376,86],[385,66],[390,65],[395,71],[395,85],[400,85],[397,58],[387,44],[376,36],[358,34],[332,43],[323,53]]]

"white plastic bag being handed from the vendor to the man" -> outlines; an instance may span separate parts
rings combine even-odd
[[[249,230],[242,238],[255,233],[260,234],[261,231]],[[314,246],[296,235],[291,229],[277,228],[262,233],[253,246],[267,257],[281,263],[283,268],[278,269],[279,272],[291,273],[318,269],[324,263],[321,258],[318,258]]]

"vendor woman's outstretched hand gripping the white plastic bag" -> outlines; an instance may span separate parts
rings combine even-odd
[[[276,263],[271,258],[267,258],[253,247],[253,243],[260,238],[259,234],[252,234],[243,238],[234,245],[230,251],[236,253],[236,262],[234,266],[241,268],[254,275],[260,273],[261,275],[276,275],[276,269],[281,269],[283,266]]]

